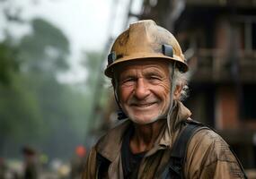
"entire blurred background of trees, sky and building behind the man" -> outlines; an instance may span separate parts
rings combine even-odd
[[[0,0],[0,179],[79,178],[119,123],[103,75],[109,48],[141,19],[178,38],[192,118],[256,178],[255,0]]]

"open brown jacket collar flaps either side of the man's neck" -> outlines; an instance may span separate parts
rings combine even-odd
[[[185,107],[180,101],[174,101],[174,109],[171,116],[170,128],[163,125],[163,130],[157,138],[154,148],[146,153],[146,156],[153,154],[158,149],[163,149],[166,147],[171,147],[173,139],[176,137],[176,131],[178,130],[181,121],[186,120],[190,117],[190,110]],[[104,158],[107,158],[112,162],[115,158],[120,155],[121,144],[124,136],[124,132],[127,131],[128,127],[131,125],[130,120],[124,121],[117,127],[113,128],[105,136],[103,136],[100,141],[96,144],[96,150]]]

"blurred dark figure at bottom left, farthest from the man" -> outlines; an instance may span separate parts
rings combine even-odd
[[[39,164],[35,149],[32,149],[29,146],[25,146],[22,149],[22,154],[24,158],[23,179],[38,179]]]

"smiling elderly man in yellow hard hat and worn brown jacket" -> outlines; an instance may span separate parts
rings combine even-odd
[[[182,105],[188,66],[168,30],[137,21],[108,60],[105,74],[127,120],[93,147],[84,179],[246,177],[225,141]]]

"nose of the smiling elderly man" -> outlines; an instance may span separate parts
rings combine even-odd
[[[150,94],[150,90],[148,89],[148,85],[145,79],[138,79],[137,85],[135,89],[135,95],[138,99],[146,98]]]

